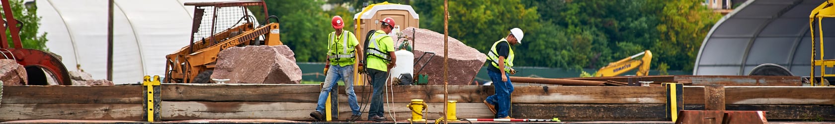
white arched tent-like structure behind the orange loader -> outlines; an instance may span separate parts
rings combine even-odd
[[[80,69],[94,79],[107,77],[107,14],[105,0],[34,0],[46,47],[63,57],[68,71]],[[164,75],[165,55],[187,46],[194,6],[185,2],[231,0],[114,1],[115,84],[142,82],[146,75]],[[38,33],[40,34],[40,33]]]

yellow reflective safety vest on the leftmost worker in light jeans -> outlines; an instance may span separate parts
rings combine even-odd
[[[328,56],[327,58],[331,60],[331,62],[343,62],[343,61],[351,61],[354,60],[354,49],[351,48],[351,51],[348,51],[348,33],[344,30],[342,31],[342,52],[337,50],[337,39],[334,36],[336,32],[331,32],[330,39],[328,40]],[[342,53],[342,54],[340,54]]]

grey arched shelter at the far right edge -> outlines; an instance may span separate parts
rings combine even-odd
[[[773,63],[788,68],[795,76],[809,76],[812,45],[808,15],[824,1],[743,3],[716,22],[707,34],[696,57],[693,75],[747,75],[757,65]],[[822,27],[835,29],[833,19],[823,19]],[[824,33],[824,39],[835,41],[835,32],[825,30]],[[825,51],[828,55],[825,59],[835,58],[835,42],[824,46],[831,48]]]

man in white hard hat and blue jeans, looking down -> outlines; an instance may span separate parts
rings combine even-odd
[[[510,75],[515,74],[514,67],[514,49],[510,46],[521,44],[524,33],[522,29],[510,29],[507,37],[493,43],[490,51],[487,53],[487,61],[490,66],[487,68],[487,74],[490,80],[493,81],[493,90],[495,94],[487,97],[484,104],[493,112],[496,118],[511,118],[508,115],[510,110],[510,93],[514,92],[514,85],[510,83]]]

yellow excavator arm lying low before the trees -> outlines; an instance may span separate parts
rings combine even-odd
[[[640,57],[643,55],[644,57]],[[636,59],[640,57],[640,59]],[[600,67],[600,70],[595,72],[595,77],[614,77],[625,72],[629,72],[638,68],[637,76],[646,76],[650,72],[650,61],[652,61],[652,52],[646,50],[638,54],[626,57],[617,62],[610,62],[606,67]]]

